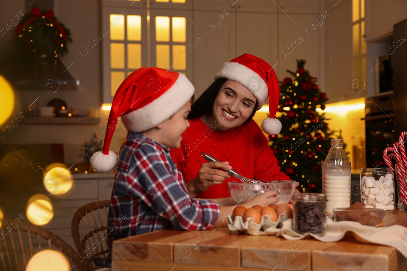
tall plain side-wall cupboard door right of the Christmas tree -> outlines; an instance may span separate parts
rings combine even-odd
[[[352,80],[352,2],[330,11],[325,20],[325,87],[329,102],[350,100],[354,97],[348,83]],[[352,83],[351,83],[352,84]],[[366,95],[364,91],[362,93]]]

